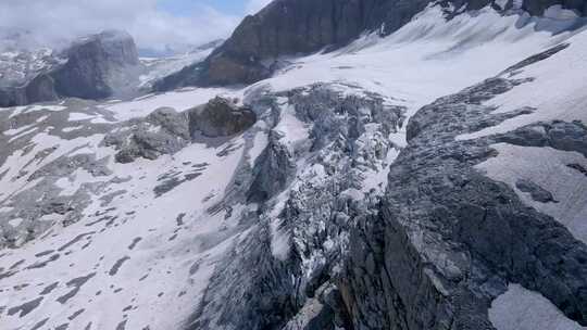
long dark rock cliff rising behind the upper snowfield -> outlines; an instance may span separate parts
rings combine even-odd
[[[500,8],[492,0],[445,0],[447,17],[488,4],[513,9],[513,0]],[[500,1],[501,3],[502,1]],[[155,90],[182,86],[251,84],[272,74],[272,62],[282,55],[307,54],[350,42],[364,31],[388,35],[421,12],[429,0],[276,0],[247,16],[233,36],[205,62],[188,66],[158,84]],[[520,9],[542,15],[553,4],[587,13],[580,0],[526,0]]]

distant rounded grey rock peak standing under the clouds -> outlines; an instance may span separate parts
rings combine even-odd
[[[110,30],[75,42],[63,59],[30,73],[24,81],[0,87],[0,106],[54,101],[59,98],[104,99],[128,89],[139,65],[133,38]],[[30,60],[33,61],[33,60]],[[65,62],[61,64],[60,61]]]

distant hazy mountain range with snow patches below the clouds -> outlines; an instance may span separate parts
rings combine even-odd
[[[79,38],[64,50],[13,43],[0,46],[0,106],[4,107],[65,98],[136,98],[150,91],[154,81],[204,60],[220,41],[158,59],[139,59],[133,37],[120,30]]]

